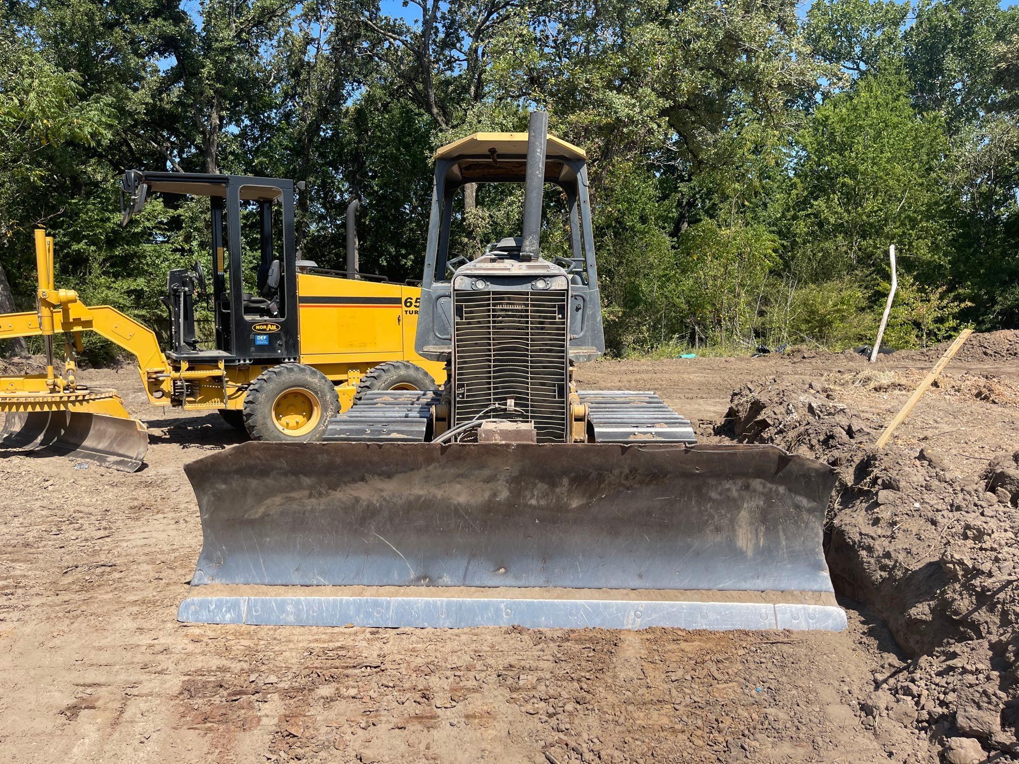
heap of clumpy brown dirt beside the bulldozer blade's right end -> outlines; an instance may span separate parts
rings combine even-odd
[[[839,473],[826,538],[836,588],[912,658],[875,674],[864,719],[918,725],[946,761],[981,760],[972,741],[1019,754],[1019,452],[966,477],[930,450],[878,451],[833,388],[773,379],[733,394],[722,433]]]

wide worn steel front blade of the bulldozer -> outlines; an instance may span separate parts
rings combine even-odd
[[[184,472],[181,621],[846,625],[834,474],[772,446],[246,443]]]

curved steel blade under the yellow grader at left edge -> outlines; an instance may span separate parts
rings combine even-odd
[[[149,434],[136,419],[89,412],[8,412],[0,448],[50,453],[95,461],[132,473],[145,463]]]

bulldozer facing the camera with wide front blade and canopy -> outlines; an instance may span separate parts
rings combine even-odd
[[[523,236],[449,259],[454,193],[524,182]],[[545,183],[570,257],[539,253]],[[582,391],[603,350],[584,152],[478,133],[436,155],[416,348],[434,390],[375,392],[321,443],[184,467],[203,547],[181,621],[840,630],[825,465],[698,444],[646,391]]]

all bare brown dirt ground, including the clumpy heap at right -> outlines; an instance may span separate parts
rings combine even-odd
[[[201,531],[181,467],[240,438],[214,413],[149,407],[131,369],[86,371],[148,424],[148,465],[125,475],[0,452],[0,759],[1011,761],[1016,609],[1001,601],[1014,576],[999,552],[1017,510],[1007,489],[998,503],[983,490],[988,462],[1017,447],[1019,358],[1004,346],[953,363],[887,457],[867,444],[936,352],[579,371],[588,389],[659,391],[706,439],[735,426],[840,469],[829,559],[866,603],[842,599],[843,634],[182,625]],[[929,474],[920,448],[938,462]],[[941,497],[925,514],[912,501],[924,490]],[[910,571],[931,565],[958,576],[927,592]],[[962,594],[940,605],[953,586]],[[894,617],[909,607],[922,612]],[[957,720],[967,693],[979,698]],[[997,707],[1001,730],[982,732]]]

